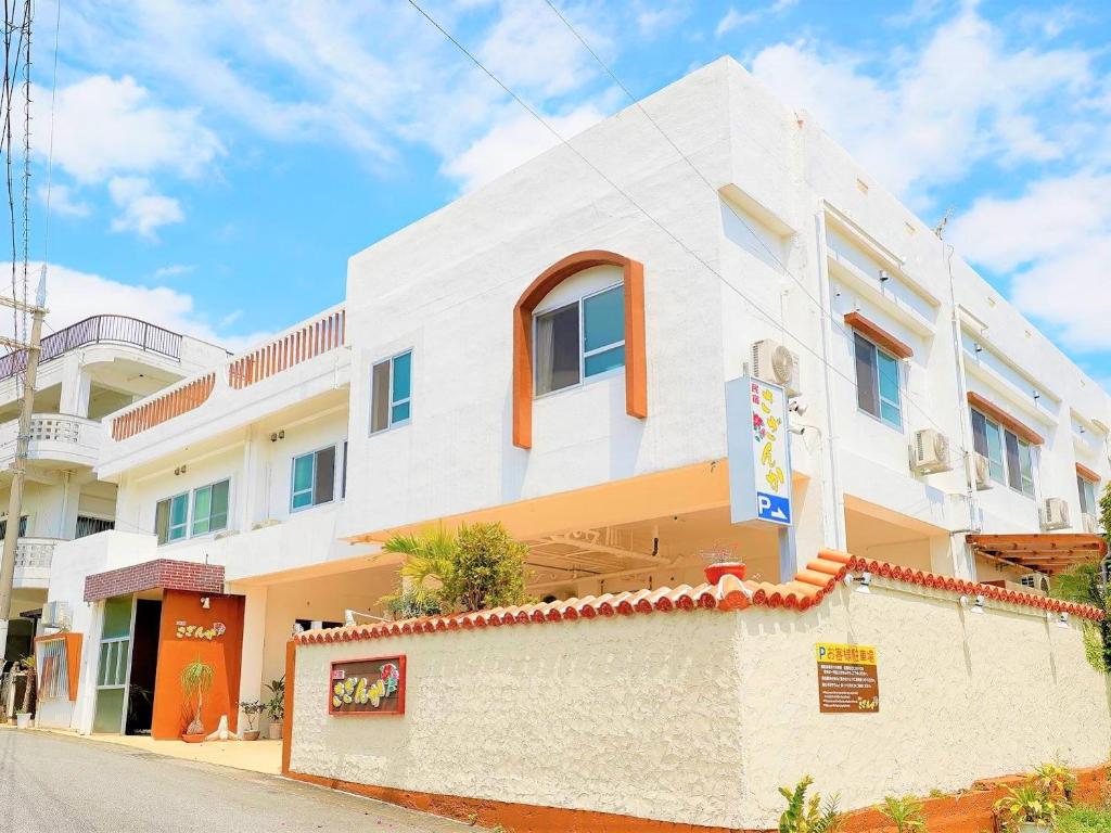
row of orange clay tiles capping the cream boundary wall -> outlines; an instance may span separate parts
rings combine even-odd
[[[950,593],[982,595],[985,599],[1008,604],[1070,613],[1082,619],[1103,619],[1103,611],[1090,605],[1064,602],[1035,593],[1005,590],[992,584],[977,584],[950,575],[938,575],[885,561],[860,559],[845,552],[820,550],[818,558],[810,561],[805,569],[800,570],[793,580],[781,584],[742,582],[735,575],[723,575],[717,584],[699,584],[694,588],[681,584],[673,589],[659,588],[635,592],[605,593],[597,598],[585,596],[565,601],[522,604],[514,608],[496,608],[473,613],[423,616],[372,625],[318,629],[298,634],[294,641],[299,644],[350,642],[410,633],[437,633],[529,623],[573,622],[579,619],[631,616],[634,614],[667,613],[675,610],[741,611],[751,605],[783,608],[801,612],[820,604],[833,591],[837,582],[841,581],[850,570],[868,571],[873,575],[892,581],[919,584]]]

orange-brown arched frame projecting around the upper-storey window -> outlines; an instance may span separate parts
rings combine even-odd
[[[644,348],[644,267],[635,260],[600,249],[575,252],[537,277],[513,307],[513,444],[532,448],[533,367],[532,314],[563,281],[594,267],[620,267],[624,281],[625,413],[648,416],[648,373]]]

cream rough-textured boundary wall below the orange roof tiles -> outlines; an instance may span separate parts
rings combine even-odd
[[[915,598],[917,596],[917,598]],[[821,714],[814,645],[874,645],[880,709]],[[330,662],[404,654],[406,714],[329,717]],[[967,789],[1111,740],[1075,621],[842,588],[803,614],[672,612],[299,645],[293,772],[739,830],[804,774],[842,807]],[[851,750],[852,754],[847,754]]]

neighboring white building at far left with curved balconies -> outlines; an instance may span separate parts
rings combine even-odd
[[[220,361],[227,351],[126,315],[93,315],[42,339],[28,450],[12,619],[4,656],[31,650],[60,541],[116,525],[116,485],[98,480],[103,420]],[[26,354],[0,357],[0,502],[7,511]],[[0,535],[7,530],[0,516]],[[22,613],[30,618],[23,618]]]

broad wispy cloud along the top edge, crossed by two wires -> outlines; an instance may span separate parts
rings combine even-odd
[[[685,2],[559,6],[609,62],[614,33],[661,24]],[[431,13],[540,111],[567,112],[599,93],[602,70],[542,2],[464,0]],[[207,120],[272,141],[346,145],[384,174],[402,143],[450,165],[507,113],[490,79],[392,0],[321,0],[311,14],[292,0],[73,0],[67,17],[63,53],[82,66],[127,70],[156,93],[199,102]]]

